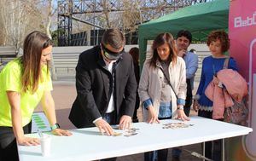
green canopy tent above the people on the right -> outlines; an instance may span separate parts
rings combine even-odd
[[[140,64],[146,58],[148,40],[153,40],[161,32],[171,32],[175,37],[179,30],[192,33],[193,39],[204,41],[212,30],[228,29],[230,0],[215,0],[198,3],[150,20],[138,27]]]

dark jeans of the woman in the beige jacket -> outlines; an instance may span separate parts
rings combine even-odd
[[[160,120],[163,119],[171,119],[170,118],[159,118]],[[158,151],[151,151],[151,152],[144,152],[144,161],[155,161],[155,156],[154,154],[157,155],[157,161],[166,161],[167,160],[167,156],[168,156],[168,149],[161,149]]]

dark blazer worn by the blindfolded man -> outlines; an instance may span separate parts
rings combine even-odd
[[[123,115],[132,116],[136,100],[137,82],[131,55],[125,53],[116,62],[113,102],[117,123]],[[76,67],[77,97],[73,102],[69,119],[77,128],[94,126],[96,118],[107,111],[112,90],[113,76],[96,46],[79,55]]]

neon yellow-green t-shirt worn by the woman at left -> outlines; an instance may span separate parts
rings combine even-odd
[[[44,91],[53,89],[49,72],[47,73],[47,66],[42,68],[44,81],[39,81],[38,89],[34,94],[29,91],[21,91],[21,74],[20,59],[10,61],[0,72],[0,126],[12,126],[11,107],[6,91],[20,93],[22,126],[25,126],[31,122],[32,113],[41,101]]]

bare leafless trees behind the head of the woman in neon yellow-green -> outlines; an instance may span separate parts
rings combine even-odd
[[[44,14],[44,3],[47,4]],[[43,4],[43,5],[42,5]],[[0,1],[0,36],[3,45],[13,45],[19,50],[26,34],[34,30],[50,35],[50,25],[55,13],[52,0],[1,0]],[[46,15],[47,17],[44,17]],[[46,23],[45,23],[46,22]],[[55,66],[52,58],[51,72],[55,80]]]

